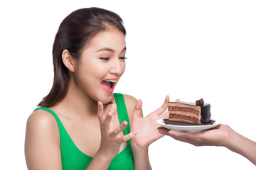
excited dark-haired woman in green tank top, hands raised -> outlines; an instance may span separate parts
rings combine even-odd
[[[27,122],[28,169],[151,169],[148,147],[163,136],[155,121],[169,96],[142,118],[141,100],[113,94],[125,35],[122,19],[102,8],[79,9],[60,24],[53,87]]]

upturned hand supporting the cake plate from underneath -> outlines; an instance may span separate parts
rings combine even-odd
[[[204,132],[176,132],[163,127],[158,128],[159,133],[169,135],[175,140],[190,143],[195,146],[225,146],[233,131],[228,125],[219,125],[212,130]]]

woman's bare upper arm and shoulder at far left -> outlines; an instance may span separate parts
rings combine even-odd
[[[62,169],[58,125],[52,115],[38,110],[28,118],[25,156],[28,169]]]

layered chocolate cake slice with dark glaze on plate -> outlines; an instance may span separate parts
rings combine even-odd
[[[169,102],[169,121],[202,125],[210,121],[210,104],[203,98],[196,103]]]

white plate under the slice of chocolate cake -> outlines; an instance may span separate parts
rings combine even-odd
[[[213,123],[213,125],[169,125],[164,123],[164,120],[159,119],[156,120],[156,123],[161,125],[162,127],[169,129],[169,130],[175,130],[177,132],[182,131],[188,131],[188,132],[202,132],[204,130],[209,130],[212,128],[215,128],[216,126],[220,125],[217,121]]]

